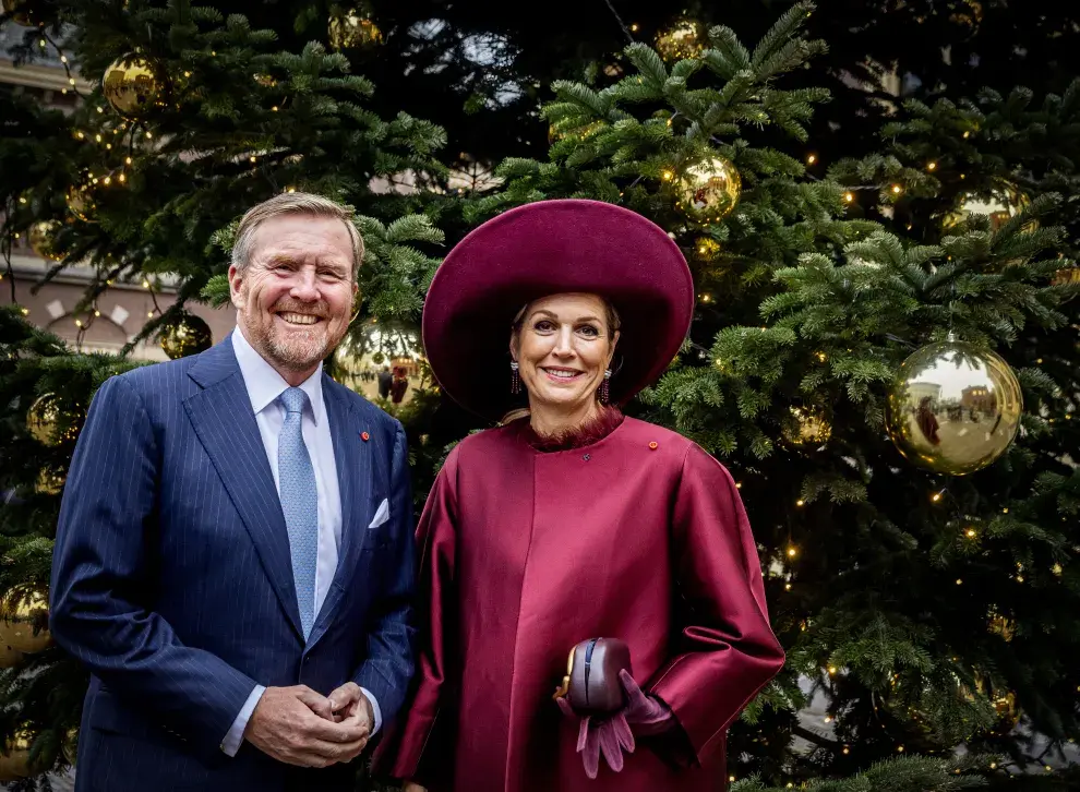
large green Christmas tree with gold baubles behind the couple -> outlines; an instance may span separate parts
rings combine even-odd
[[[563,196],[660,224],[691,262],[698,310],[683,352],[629,409],[735,475],[789,652],[731,735],[733,778],[746,790],[807,782],[825,792],[945,790],[1023,773],[1009,785],[1067,788],[1067,771],[1045,767],[1060,768],[1080,732],[1080,473],[1068,454],[1080,447],[1080,301],[1069,301],[1080,290],[1078,88],[1033,94],[994,81],[1000,93],[976,93],[958,83],[952,100],[849,124],[845,134],[859,123],[876,135],[840,148],[812,137],[829,116],[820,86],[831,81],[827,48],[806,33],[819,29],[811,5],[783,14],[753,50],[722,24],[653,9],[638,17],[651,23],[610,17],[617,24],[584,48],[583,60],[597,59],[585,80],[551,85],[549,154],[505,159],[503,185],[463,202],[451,183],[458,153],[446,153],[439,125],[392,109],[422,103],[400,98],[412,83],[377,51],[422,9],[5,9],[28,23],[19,55],[62,56],[95,86],[70,113],[0,92],[9,262],[14,235],[37,228],[56,272],[88,266],[77,312],[87,324],[113,284],[171,284],[177,301],[142,335],[160,335],[177,355],[200,348],[184,302],[227,293],[231,224],[283,190],[320,192],[360,215],[363,302],[329,361],[350,384],[356,361],[416,351],[443,231],[453,242],[503,208]],[[707,10],[703,19],[724,21]],[[640,24],[656,29],[646,39],[655,48],[610,51]],[[540,46],[524,25],[475,14],[425,40],[460,47],[494,31],[521,52]],[[572,37],[559,40],[571,49]],[[411,57],[422,63],[435,49]],[[530,58],[500,80],[557,75],[551,60]],[[483,112],[500,85],[484,84],[468,105],[479,129],[513,115]],[[515,107],[523,129],[536,123],[531,108]],[[525,151],[482,152],[476,132],[454,135],[475,143],[475,159]],[[1007,393],[1015,372],[1022,412],[1004,396],[932,398],[940,427],[921,440],[929,419],[908,400],[921,398],[915,385],[940,383],[905,379],[901,364],[936,341],[953,347],[912,371],[985,372],[996,352],[995,388]],[[94,389],[135,362],[74,353],[17,308],[0,313],[0,591],[9,633],[24,641],[5,645],[0,729],[11,756],[39,772],[73,757],[85,686],[41,632],[63,472]],[[447,446],[480,428],[441,399],[422,359],[420,368],[411,400],[386,404],[409,432],[418,504]],[[812,699],[826,709],[814,728]]]

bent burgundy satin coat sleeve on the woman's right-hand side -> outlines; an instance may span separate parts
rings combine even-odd
[[[728,471],[697,445],[683,459],[671,528],[674,576],[687,616],[681,653],[649,692],[674,712],[698,761],[783,665],[769,626],[761,566]]]

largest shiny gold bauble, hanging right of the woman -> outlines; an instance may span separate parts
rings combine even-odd
[[[963,476],[1012,443],[1023,397],[1000,357],[961,341],[931,344],[900,367],[889,389],[886,429],[910,461]]]

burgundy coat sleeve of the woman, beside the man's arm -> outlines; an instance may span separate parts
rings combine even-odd
[[[412,699],[380,745],[375,763],[381,772],[423,782],[424,768],[439,763],[429,745],[440,708],[446,704],[448,636],[456,612],[457,449],[435,478],[417,527],[420,572],[417,584],[419,646]],[[425,752],[427,748],[427,752]]]

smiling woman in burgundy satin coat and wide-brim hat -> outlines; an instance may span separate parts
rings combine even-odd
[[[439,269],[440,384],[494,419],[524,391],[529,411],[449,454],[418,529],[417,691],[380,752],[406,789],[723,788],[728,724],[783,663],[754,538],[716,460],[613,406],[663,372],[693,307],[667,235],[591,201],[507,212]],[[632,734],[552,697],[601,636],[631,648]]]

